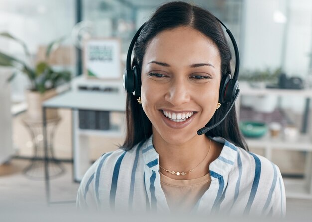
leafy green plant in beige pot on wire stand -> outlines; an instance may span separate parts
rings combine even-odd
[[[15,68],[16,71],[8,78],[8,81],[11,81],[19,73],[23,73],[28,77],[30,87],[26,92],[28,105],[27,116],[29,120],[42,121],[42,102],[55,96],[57,94],[56,87],[61,83],[70,81],[71,78],[69,71],[56,71],[47,62],[51,53],[59,47],[65,37],[56,39],[48,44],[45,60],[39,61],[36,64],[32,62],[30,52],[23,41],[13,37],[7,32],[0,33],[0,37],[13,40],[23,47],[28,62],[0,51],[0,66]],[[46,114],[47,119],[58,117],[56,110],[48,110]]]

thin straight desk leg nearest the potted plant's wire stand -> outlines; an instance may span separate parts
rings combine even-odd
[[[50,177],[49,177],[49,154],[48,154],[48,140],[46,129],[46,108],[42,108],[43,113],[43,149],[44,149],[44,177],[45,177],[45,195],[47,204],[50,204]]]

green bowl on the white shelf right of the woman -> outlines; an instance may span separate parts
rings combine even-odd
[[[240,122],[239,128],[245,137],[259,138],[266,134],[268,126],[263,122]]]

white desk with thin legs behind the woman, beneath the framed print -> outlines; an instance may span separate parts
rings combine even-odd
[[[88,155],[88,148],[84,147],[79,140],[78,110],[124,112],[126,110],[126,93],[122,90],[119,90],[118,93],[98,91],[67,91],[49,100],[46,100],[43,103],[42,108],[45,152],[47,152],[45,110],[47,108],[68,108],[72,110],[73,177],[76,182],[79,182],[81,181],[86,170],[90,167],[90,159]],[[107,135],[114,135],[116,134],[116,131],[114,132],[112,130],[108,130],[104,133],[107,133]],[[45,162],[46,193],[49,203],[50,189],[48,158],[45,158]]]

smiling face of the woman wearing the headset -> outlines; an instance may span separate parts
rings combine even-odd
[[[160,32],[142,63],[142,107],[154,137],[183,144],[216,111],[221,58],[212,40],[190,27]],[[160,136],[160,137],[159,137]]]

